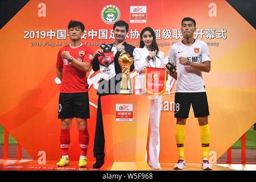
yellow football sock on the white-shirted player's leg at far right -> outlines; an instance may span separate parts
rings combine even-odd
[[[203,157],[208,159],[209,146],[210,146],[210,130],[209,125],[200,126],[200,139],[203,148]]]

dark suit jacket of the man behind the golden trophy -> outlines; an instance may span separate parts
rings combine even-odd
[[[113,46],[113,44],[112,44]],[[130,53],[131,56],[133,56],[133,50],[135,49],[134,46],[131,46],[129,44],[127,44],[126,42],[123,43],[123,46],[125,46],[125,52]],[[120,53],[117,51],[117,53],[115,53],[114,56],[114,64],[115,64],[115,76],[110,78],[110,80],[104,80],[101,79],[100,80],[100,84],[98,85],[98,92],[97,94],[99,96],[105,96],[108,94],[119,94],[119,90],[120,90],[120,74],[118,73],[122,73],[122,69],[118,63],[118,57],[119,57]],[[92,62],[92,68],[94,72],[97,72],[100,69],[100,64],[98,63],[98,55],[96,54],[93,58],[93,62]],[[134,70],[134,63],[131,65],[130,67],[130,72]],[[113,84],[114,83],[114,84]],[[105,86],[108,86],[108,88],[104,88]],[[117,89],[115,89],[117,88]]]

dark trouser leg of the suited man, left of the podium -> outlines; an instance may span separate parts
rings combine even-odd
[[[101,96],[98,96],[98,109],[97,109],[97,119],[96,119],[96,130],[94,136],[94,146],[93,146],[93,155],[96,160],[104,160],[104,146],[105,146],[105,137],[104,137],[104,127],[101,113]]]

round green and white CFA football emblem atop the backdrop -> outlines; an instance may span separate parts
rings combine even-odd
[[[107,24],[113,24],[120,18],[120,11],[117,6],[108,5],[101,10],[101,19]]]

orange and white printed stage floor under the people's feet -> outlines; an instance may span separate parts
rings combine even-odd
[[[37,160],[3,160],[0,159],[0,171],[98,171],[93,169],[94,162],[88,162],[86,168],[79,168],[78,162],[72,161],[68,167],[56,167],[56,161],[48,160],[46,164],[38,164]],[[174,170],[174,163],[161,163],[163,169]],[[256,164],[212,164],[213,171],[256,171]],[[201,164],[187,163],[187,168],[181,171],[202,171]]]

